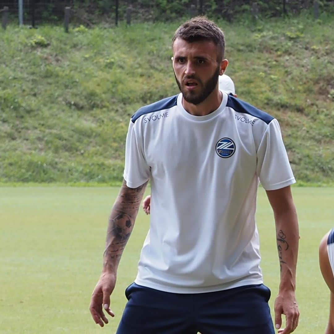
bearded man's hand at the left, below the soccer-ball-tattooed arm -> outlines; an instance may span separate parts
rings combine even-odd
[[[115,288],[115,284],[116,276],[114,274],[102,273],[92,294],[89,310],[91,311],[95,323],[99,324],[101,327],[104,326],[103,322],[108,324],[108,319],[102,311],[102,305],[110,316],[115,316],[110,309],[110,295]]]

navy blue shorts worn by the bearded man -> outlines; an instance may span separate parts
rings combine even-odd
[[[131,284],[116,334],[275,334],[263,284],[199,294]]]

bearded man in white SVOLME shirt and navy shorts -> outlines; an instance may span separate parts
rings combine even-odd
[[[298,325],[295,182],[278,121],[218,90],[223,32],[205,17],[172,39],[180,94],[140,108],[129,124],[124,182],[109,218],[90,311],[100,326],[147,182],[150,229],[125,291],[117,334],[273,334],[255,222],[259,181],[274,211],[280,262],[275,325]]]

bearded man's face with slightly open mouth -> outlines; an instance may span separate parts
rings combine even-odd
[[[173,45],[175,79],[183,98],[188,103],[200,104],[217,86],[218,76],[223,72],[217,58],[218,47],[212,41],[189,43],[180,38],[175,40]]]

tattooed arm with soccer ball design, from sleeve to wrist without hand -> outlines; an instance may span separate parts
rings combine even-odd
[[[116,271],[125,245],[133,230],[147,183],[148,181],[138,188],[129,188],[123,181],[109,216],[106,249],[103,254],[104,269]]]

